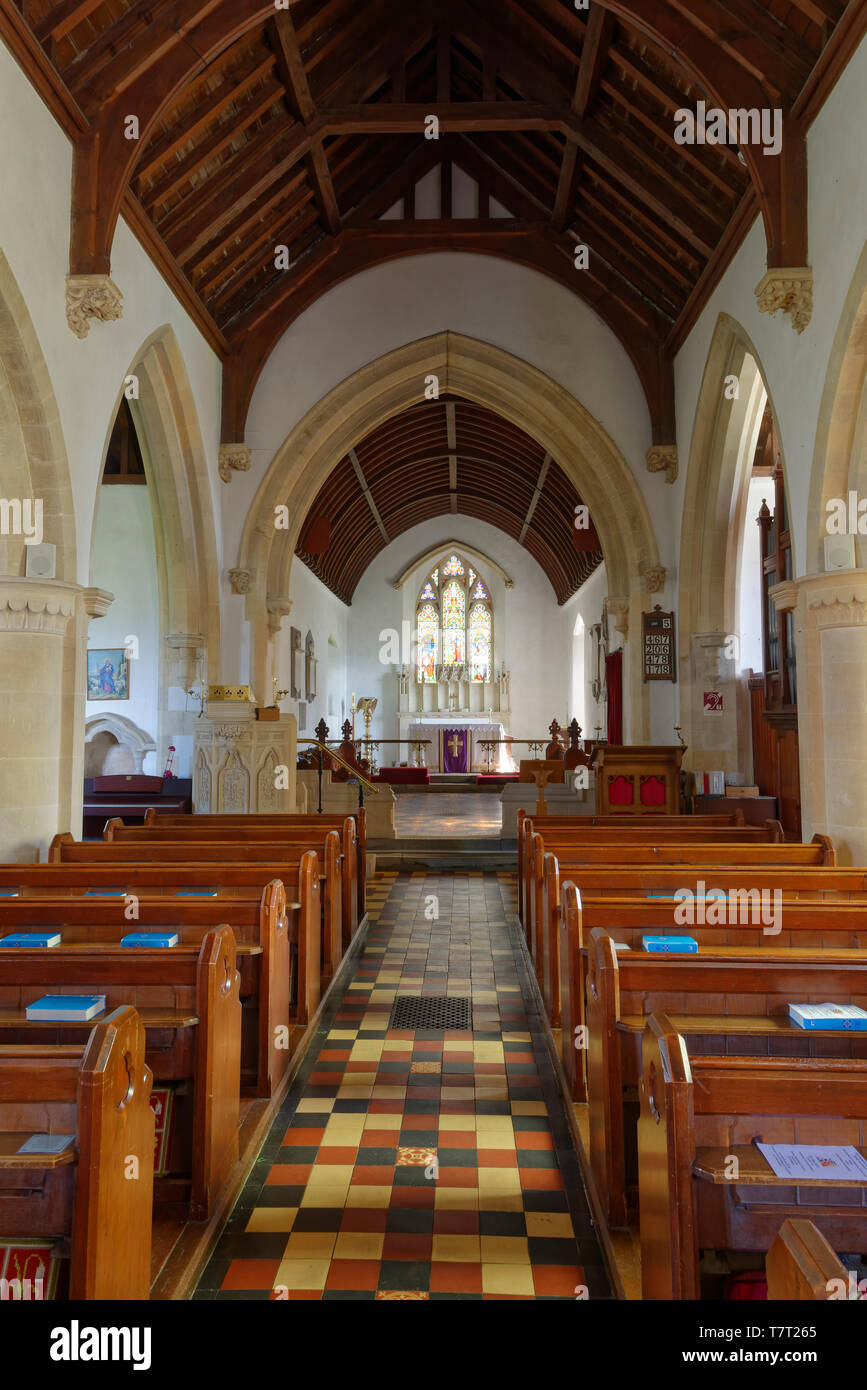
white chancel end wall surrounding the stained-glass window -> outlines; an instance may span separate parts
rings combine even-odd
[[[475,546],[509,574],[514,588],[507,589],[495,573],[479,562],[479,574],[490,585],[495,610],[495,666],[506,663],[511,673],[511,716],[507,717],[515,738],[545,733],[552,719],[563,723],[570,698],[571,641],[564,638],[563,612],[554,591],[531,553],[496,527],[465,516],[443,516],[424,521],[392,541],[361,577],[349,612],[350,685],[356,695],[375,695],[374,734],[397,738],[396,667],[379,660],[379,632],[402,631],[402,621],[414,627],[415,599],[425,573],[418,566],[403,591],[393,580],[417,555],[450,541]],[[297,562],[296,562],[297,564]],[[295,582],[296,566],[292,569]],[[292,609],[295,620],[295,607]],[[350,691],[352,694],[352,691]]]

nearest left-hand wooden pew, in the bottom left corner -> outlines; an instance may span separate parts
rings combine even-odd
[[[144,1026],[122,1006],[86,1027],[83,1045],[0,1045],[0,1230],[68,1237],[71,1298],[144,1300],[154,1155]],[[75,1144],[18,1152],[46,1133]]]

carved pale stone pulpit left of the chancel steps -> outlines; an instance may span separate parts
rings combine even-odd
[[[193,808],[225,815],[295,810],[296,762],[295,714],[258,720],[250,699],[210,699],[195,726]]]

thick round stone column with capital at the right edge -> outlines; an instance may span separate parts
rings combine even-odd
[[[838,862],[867,865],[867,570],[773,589],[795,613],[802,834],[831,835]]]

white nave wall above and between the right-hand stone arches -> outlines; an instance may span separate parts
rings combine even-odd
[[[681,474],[670,491],[672,510],[679,513],[702,377],[720,313],[736,318],[752,339],[779,421],[796,575],[806,573],[810,470],[831,345],[864,249],[866,128],[867,39],[807,136],[809,257],[814,281],[810,324],[799,335],[785,314],[759,313],[754,289],[766,272],[767,252],[764,228],[757,218],[675,361]]]

